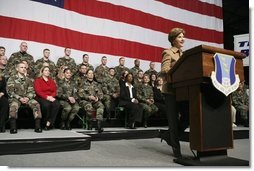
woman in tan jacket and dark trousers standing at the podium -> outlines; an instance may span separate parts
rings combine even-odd
[[[160,131],[159,136],[161,141],[165,140],[168,145],[172,146],[172,150],[176,158],[182,156],[179,143],[179,134],[181,131],[184,131],[184,128],[181,129],[182,126],[180,125],[182,124],[179,124],[179,110],[177,109],[175,90],[172,87],[171,78],[167,73],[183,54],[182,48],[185,42],[184,35],[185,31],[182,28],[173,28],[169,32],[168,40],[171,43],[171,47],[162,52],[161,62],[161,76],[164,81],[162,93],[165,96],[166,106],[168,106],[167,118],[169,130],[164,132]]]

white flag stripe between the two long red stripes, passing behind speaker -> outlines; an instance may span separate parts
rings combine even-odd
[[[20,8],[21,6],[23,7]],[[15,13],[10,10],[10,7],[13,8]],[[31,15],[31,13],[34,15]],[[169,42],[167,41],[167,34],[162,32],[122,22],[85,16],[75,12],[71,12],[70,14],[67,10],[32,1],[7,0],[0,7],[0,15],[52,24],[61,28],[68,28],[82,33],[100,36],[103,35],[106,37],[134,41],[161,48],[166,48],[169,45]],[[222,45],[190,39],[188,42],[189,45],[186,47],[194,47],[201,43],[219,47]]]

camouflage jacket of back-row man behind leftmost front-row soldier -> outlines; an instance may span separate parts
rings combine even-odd
[[[11,57],[8,60],[7,63],[7,71],[9,72],[9,75],[15,75],[16,72],[16,65],[20,63],[21,61],[26,61],[29,68],[32,72],[34,72],[34,58],[32,55],[24,52],[16,52],[11,55]]]

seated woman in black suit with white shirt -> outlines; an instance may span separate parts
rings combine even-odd
[[[135,129],[135,122],[142,122],[143,107],[137,100],[137,90],[133,86],[133,75],[128,73],[125,83],[120,87],[119,106],[125,108],[130,129]]]

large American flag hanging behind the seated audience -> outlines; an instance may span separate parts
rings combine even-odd
[[[49,48],[56,62],[70,47],[77,64],[87,53],[95,67],[106,55],[109,67],[124,56],[129,68],[138,58],[143,70],[150,61],[160,70],[173,27],[186,30],[184,50],[223,47],[222,0],[0,0],[0,23],[7,57],[26,41],[35,60]]]

